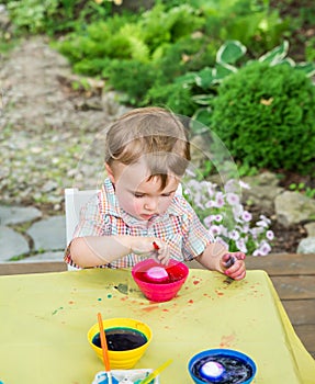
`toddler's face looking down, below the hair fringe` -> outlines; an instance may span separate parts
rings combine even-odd
[[[180,182],[178,178],[170,176],[166,188],[160,190],[159,178],[148,180],[149,174],[143,163],[115,163],[113,168],[106,166],[106,169],[115,185],[120,206],[142,221],[164,214]]]

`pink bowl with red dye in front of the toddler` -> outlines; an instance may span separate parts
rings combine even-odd
[[[146,259],[134,266],[132,275],[143,294],[153,302],[168,302],[173,298],[185,282],[189,269],[182,262],[170,260],[165,267],[168,279],[154,282],[148,279],[147,271],[153,267],[161,267],[154,259]]]

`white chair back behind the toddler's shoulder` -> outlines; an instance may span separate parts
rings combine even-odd
[[[80,191],[77,188],[65,189],[65,212],[66,212],[66,239],[67,245],[72,240],[74,233],[80,219],[81,208],[88,201],[98,193],[98,190]],[[68,266],[68,270],[78,270],[78,268]]]

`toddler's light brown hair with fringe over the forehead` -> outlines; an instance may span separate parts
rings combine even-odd
[[[169,173],[183,176],[190,160],[190,144],[178,116],[161,108],[135,109],[110,126],[105,140],[109,166],[115,161],[132,165],[143,156],[149,179],[159,177],[161,189]]]

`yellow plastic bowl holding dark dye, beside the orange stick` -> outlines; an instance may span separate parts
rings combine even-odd
[[[112,370],[128,370],[132,369],[138,360],[143,357],[146,349],[148,348],[153,332],[151,329],[143,321],[135,320],[133,318],[109,318],[103,320],[104,330],[113,328],[126,328],[131,330],[136,330],[143,334],[147,341],[134,349],[125,351],[112,351],[109,350],[110,364]],[[92,349],[95,351],[97,355],[103,360],[102,348],[93,343],[94,337],[100,332],[99,324],[94,324],[88,331],[88,340]]]

